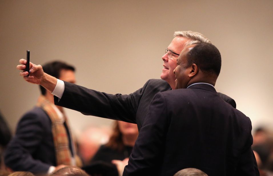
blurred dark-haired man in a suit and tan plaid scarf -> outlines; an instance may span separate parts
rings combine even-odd
[[[75,68],[63,62],[43,66],[45,73],[75,83]],[[16,134],[5,152],[13,171],[51,173],[65,165],[79,165],[69,122],[63,107],[54,105],[51,92],[40,86],[36,106],[19,120]]]

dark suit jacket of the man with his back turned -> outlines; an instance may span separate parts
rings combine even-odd
[[[123,175],[174,175],[189,167],[209,176],[258,175],[251,129],[210,85],[158,93]]]

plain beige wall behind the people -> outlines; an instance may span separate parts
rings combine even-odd
[[[16,65],[63,60],[77,84],[128,94],[160,78],[161,56],[176,30],[210,38],[222,54],[216,89],[234,98],[253,127],[272,126],[273,1],[0,1],[0,110],[15,129],[39,95]],[[110,120],[67,110],[73,128]]]

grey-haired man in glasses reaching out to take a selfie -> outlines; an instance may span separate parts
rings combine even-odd
[[[26,81],[40,84],[55,95],[54,101],[56,105],[77,110],[85,115],[136,123],[138,130],[140,130],[154,95],[158,92],[174,89],[175,75],[173,70],[176,67],[178,53],[185,46],[195,43],[211,42],[198,32],[175,32],[174,39],[162,56],[163,69],[160,75],[161,79],[150,79],[142,88],[129,95],[111,95],[67,83],[44,73],[41,65],[32,63],[30,63],[29,77],[25,77],[28,75],[27,71],[21,72],[20,75],[24,76]],[[21,59],[20,64],[26,64],[26,61]],[[25,65],[17,66],[19,70],[24,70],[25,68]],[[221,93],[218,93],[218,95],[236,108],[236,103],[232,98]]]

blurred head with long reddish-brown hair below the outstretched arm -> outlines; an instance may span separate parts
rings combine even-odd
[[[137,140],[137,136],[137,124],[116,121],[113,128],[113,134],[106,146],[121,151],[125,146],[133,147]]]

